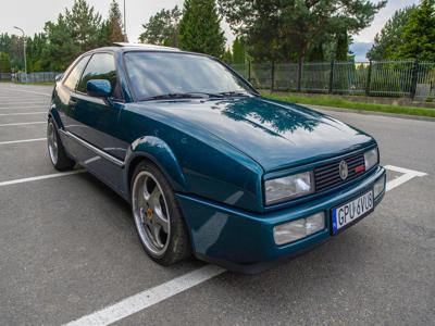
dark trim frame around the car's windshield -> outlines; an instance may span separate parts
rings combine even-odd
[[[210,60],[213,60],[220,64],[222,64],[223,66],[225,66],[229,73],[232,73],[233,75],[235,75],[244,85],[246,85],[246,87],[250,90],[248,91],[249,95],[253,96],[253,97],[259,97],[260,92],[248,82],[239,73],[237,73],[235,70],[233,70],[228,64],[226,64],[225,62],[219,60],[217,58],[208,55],[208,54],[203,54],[203,53],[197,53],[197,52],[188,52],[188,51],[162,51],[162,50],[144,50],[144,49],[129,49],[126,51],[123,51],[122,53],[122,62],[123,62],[123,66],[124,66],[124,73],[125,73],[125,77],[127,80],[127,86],[133,95],[133,102],[141,102],[144,100],[141,100],[135,92],[135,88],[132,87],[132,80],[129,79],[129,75],[128,75],[128,70],[127,70],[127,65],[125,63],[125,54],[127,53],[137,53],[137,52],[145,52],[145,53],[153,53],[153,52],[158,52],[158,53],[173,53],[173,54],[179,54],[179,55],[197,55],[197,57],[206,57],[209,58]]]

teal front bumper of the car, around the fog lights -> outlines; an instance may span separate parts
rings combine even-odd
[[[194,252],[199,259],[229,269],[256,273],[327,240],[332,235],[331,210],[369,191],[382,177],[385,177],[385,170],[380,166],[358,184],[335,193],[265,214],[240,211],[186,195],[177,195],[177,199],[190,231]],[[385,189],[375,199],[375,205],[384,195]],[[325,229],[288,244],[275,244],[274,226],[321,211],[326,216]]]

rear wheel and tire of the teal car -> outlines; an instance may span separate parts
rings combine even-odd
[[[47,125],[47,149],[48,156],[55,170],[67,171],[74,167],[75,162],[67,156],[55,124],[51,117],[48,120]]]

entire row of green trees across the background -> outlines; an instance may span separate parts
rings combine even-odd
[[[351,61],[352,36],[370,26],[387,0],[185,0],[142,25],[140,42],[202,52],[227,63]],[[376,35],[371,60],[435,61],[435,0],[399,10]],[[236,38],[226,47],[226,21]],[[23,38],[0,34],[0,72],[23,70]],[[127,41],[112,0],[107,20],[86,0],[26,38],[28,71],[63,71],[78,54]],[[300,78],[299,78],[300,79]]]

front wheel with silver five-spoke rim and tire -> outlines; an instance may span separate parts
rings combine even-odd
[[[132,177],[132,212],[146,253],[169,266],[190,255],[190,239],[170,184],[160,170],[140,162]]]

